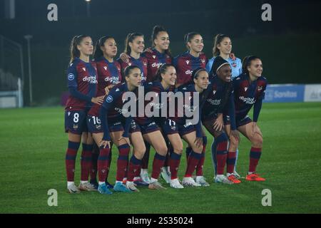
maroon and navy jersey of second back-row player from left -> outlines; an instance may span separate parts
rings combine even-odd
[[[96,60],[98,73],[98,92],[97,97],[105,95],[105,88],[110,85],[117,85],[121,83],[121,64],[117,61],[110,63],[106,58],[102,57]],[[93,104],[88,114],[99,116],[99,109],[101,105]]]

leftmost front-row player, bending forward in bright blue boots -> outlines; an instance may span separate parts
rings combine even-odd
[[[116,192],[131,192],[125,185],[123,179],[126,177],[128,167],[128,155],[130,151],[130,142],[128,138],[129,128],[131,127],[131,118],[125,118],[123,114],[128,110],[123,109],[125,98],[124,93],[133,91],[141,84],[141,70],[137,66],[128,66],[123,73],[126,83],[114,86],[108,93],[107,98],[103,101],[100,110],[101,125],[103,126],[103,139],[100,146],[108,150],[111,140],[118,147],[119,155],[117,160],[116,184],[113,190]],[[135,140],[134,140],[135,141]],[[103,157],[108,156],[106,154]],[[99,164],[99,163],[98,163]],[[104,162],[105,167],[107,163]],[[105,182],[99,185],[103,190],[107,190]]]

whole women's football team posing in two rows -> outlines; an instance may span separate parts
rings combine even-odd
[[[151,46],[146,45],[149,40]],[[240,60],[233,54],[230,36],[218,34],[213,46],[206,47],[213,49],[213,56],[207,58],[202,34],[190,32],[182,38],[186,51],[173,55],[170,34],[163,26],[153,27],[151,39],[129,33],[125,50],[119,51],[117,43],[122,42],[113,36],[94,42],[88,35],[71,41],[64,120],[68,192],[111,195],[139,192],[144,186],[165,190],[265,181],[256,169],[263,150],[258,118],[267,79],[256,53]],[[127,108],[130,101],[136,108]],[[249,153],[245,178],[236,169],[240,135],[251,145],[241,151]],[[115,165],[111,165],[113,147],[118,152]],[[210,154],[205,154],[207,147]],[[75,172],[77,155],[81,157],[79,185],[74,182],[79,173]],[[182,155],[186,162],[180,162]],[[205,158],[213,161],[213,176],[207,178]],[[115,183],[108,182],[110,169],[116,170]],[[178,170],[183,170],[183,177],[178,177]]]

